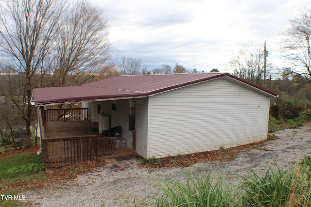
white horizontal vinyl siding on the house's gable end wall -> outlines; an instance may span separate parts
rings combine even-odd
[[[150,96],[147,157],[265,140],[269,100],[224,78]]]

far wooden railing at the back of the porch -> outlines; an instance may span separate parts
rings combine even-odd
[[[88,108],[47,109],[45,111],[47,122],[73,122],[88,120]]]

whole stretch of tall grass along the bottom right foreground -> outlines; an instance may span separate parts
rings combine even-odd
[[[272,165],[273,164],[273,165]],[[239,185],[228,186],[221,175],[186,172],[185,180],[162,180],[147,206],[155,207],[310,207],[311,156],[281,171],[276,163],[264,175],[246,170]]]

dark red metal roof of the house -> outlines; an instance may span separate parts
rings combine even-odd
[[[224,76],[257,88],[270,96],[276,96],[272,92],[238,79],[228,73],[191,73],[119,76],[80,86],[35,88],[33,102],[36,105],[40,105],[83,100],[150,96]]]

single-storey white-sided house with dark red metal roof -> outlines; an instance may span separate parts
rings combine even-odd
[[[270,97],[277,95],[228,73],[194,73],[35,88],[33,104],[45,111],[82,102],[92,131],[120,126],[127,147],[144,158],[162,158],[265,140]]]

